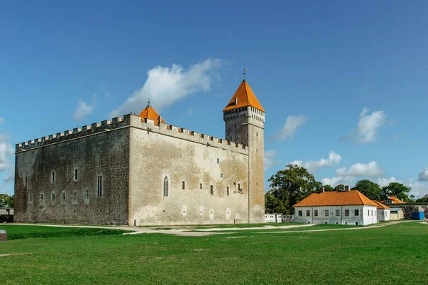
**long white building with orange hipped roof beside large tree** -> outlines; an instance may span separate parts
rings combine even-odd
[[[295,222],[305,224],[377,223],[377,204],[358,190],[314,193],[294,205]]]

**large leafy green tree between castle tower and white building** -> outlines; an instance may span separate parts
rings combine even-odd
[[[268,181],[271,190],[265,195],[265,209],[267,212],[281,214],[292,214],[292,206],[311,195],[321,185],[305,167],[292,164],[272,175]]]

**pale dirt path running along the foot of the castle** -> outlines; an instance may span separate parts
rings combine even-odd
[[[402,221],[402,222],[413,222],[413,221]],[[378,227],[386,227],[392,224],[401,223],[389,222],[384,224],[374,224],[367,227],[348,227],[343,229],[307,229],[301,231],[272,231],[272,232],[257,232],[263,234],[286,234],[294,232],[329,232],[329,231],[345,231],[345,230],[354,230],[354,229],[374,229]],[[82,226],[82,225],[62,225],[62,224],[14,224],[16,226],[41,226],[41,227],[74,227],[74,228],[93,228],[93,229],[123,229],[126,231],[131,231],[125,234],[175,234],[178,236],[184,237],[205,237],[212,234],[233,234],[235,231],[240,230],[255,230],[255,229],[290,229],[297,227],[312,227],[315,224],[299,224],[299,225],[287,225],[287,226],[264,226],[264,227],[234,227],[234,228],[215,228],[215,229],[153,229],[149,227],[128,227],[128,226],[119,226],[119,227],[103,227],[103,226]],[[198,231],[198,232],[192,232]],[[233,232],[230,232],[233,231]]]

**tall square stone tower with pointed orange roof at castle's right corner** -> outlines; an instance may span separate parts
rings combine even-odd
[[[223,109],[225,138],[248,145],[248,222],[265,221],[265,110],[247,81]]]

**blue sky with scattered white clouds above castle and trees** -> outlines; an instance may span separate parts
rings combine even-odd
[[[138,113],[148,93],[166,123],[224,138],[245,63],[266,180],[297,162],[428,194],[426,1],[86,2],[0,3],[0,192],[17,142]]]

